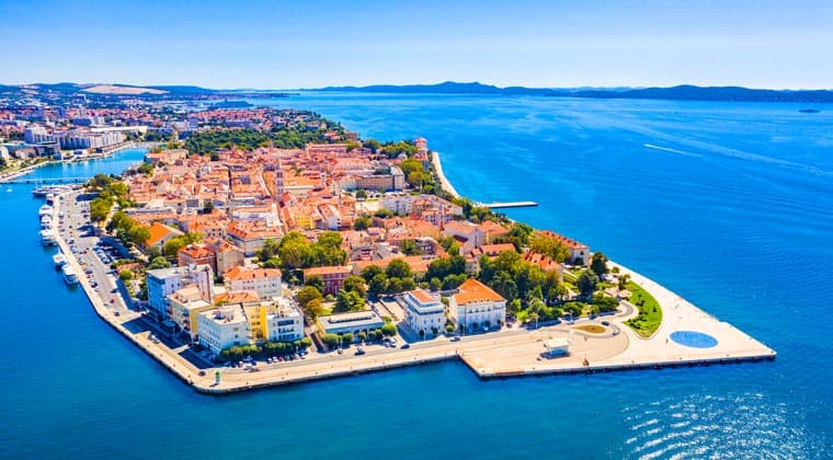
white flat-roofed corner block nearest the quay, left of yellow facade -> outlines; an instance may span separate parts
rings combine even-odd
[[[240,304],[201,311],[196,315],[199,344],[215,355],[236,345],[249,345],[249,320]]]

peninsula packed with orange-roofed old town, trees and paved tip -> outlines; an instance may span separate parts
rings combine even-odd
[[[459,196],[426,139],[293,110],[171,116],[127,130],[160,142],[141,164],[56,191],[41,219],[67,283],[197,391],[445,359],[487,379],[775,357],[601,251]]]

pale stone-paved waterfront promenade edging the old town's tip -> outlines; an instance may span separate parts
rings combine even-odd
[[[65,198],[67,194],[60,195],[61,198]],[[56,217],[64,202],[65,199],[56,200],[54,207]],[[59,232],[56,234],[56,242],[77,273],[83,273],[76,254],[69,251],[64,235]],[[116,315],[112,307],[109,307],[95,292],[87,277],[79,276],[79,284],[99,318],[150,355],[183,383],[206,394],[226,394],[350,377],[455,358],[468,366],[479,379],[490,380],[524,376],[733,364],[772,360],[776,357],[774,350],[731,324],[718,321],[652,279],[618,266],[624,273],[631,275],[634,283],[651,292],[663,308],[665,313],[663,322],[649,338],[639,337],[624,324],[637,314],[631,308],[629,311],[628,309],[625,309],[625,312],[619,311],[615,315],[580,319],[574,323],[559,323],[537,330],[504,327],[495,332],[464,336],[459,342],[452,342],[448,337],[441,336],[431,341],[412,343],[409,349],[375,349],[368,352],[366,356],[335,355],[332,352],[317,353],[306,361],[259,365],[256,372],[226,367],[197,368],[181,356],[178,348],[172,349],[161,342],[152,341],[149,329],[134,332],[125,326],[126,323],[140,319],[141,313],[128,310],[126,314]],[[672,311],[674,311],[673,315]],[[608,329],[618,332],[598,336],[577,332],[574,329],[575,323],[600,324],[602,321],[613,324]],[[676,330],[708,332],[717,336],[719,346],[714,349],[692,348],[670,343],[667,337]],[[557,337],[570,337],[570,353],[559,358],[541,358],[541,343]],[[215,381],[215,372],[220,373],[219,383]]]

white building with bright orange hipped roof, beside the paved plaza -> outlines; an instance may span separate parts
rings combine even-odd
[[[466,331],[500,327],[506,320],[506,299],[477,279],[469,278],[452,296],[449,315]]]

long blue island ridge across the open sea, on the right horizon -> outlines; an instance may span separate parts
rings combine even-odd
[[[457,83],[438,84],[375,84],[370,87],[327,87],[317,91],[369,92],[369,93],[432,93],[432,94],[500,94],[541,95],[551,97],[589,99],[658,99],[676,101],[744,101],[744,102],[808,102],[832,103],[830,90],[757,90],[741,87],[695,87],[683,84],[672,88],[499,88],[491,84]]]

